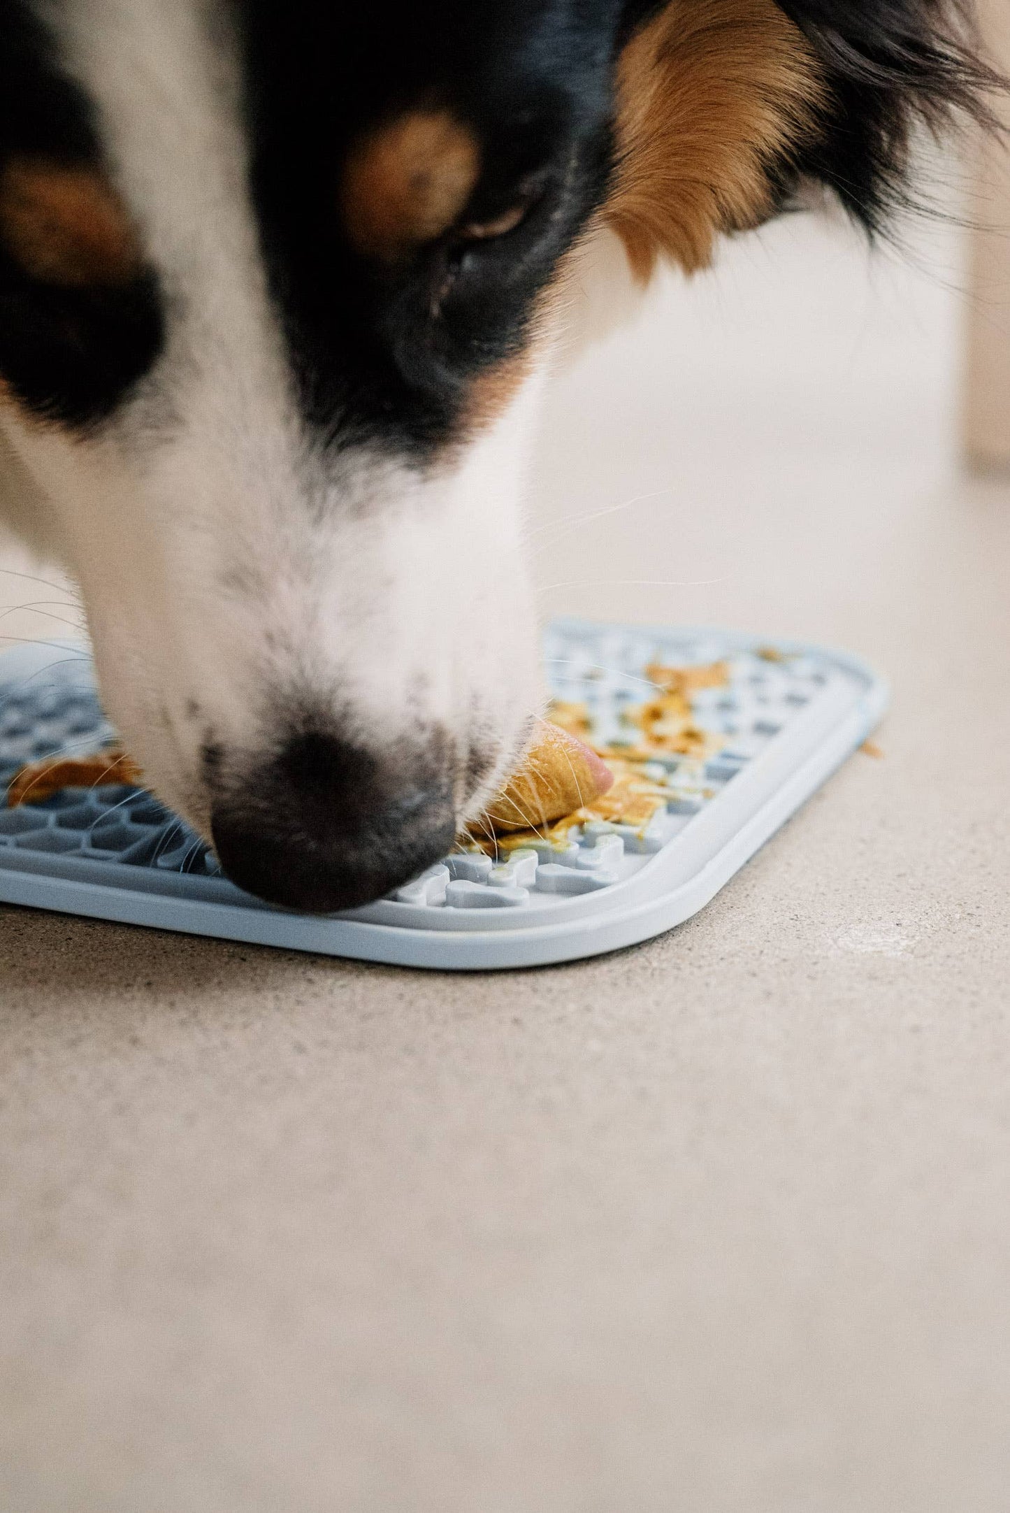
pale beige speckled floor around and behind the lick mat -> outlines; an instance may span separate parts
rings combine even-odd
[[[552,396],[546,610],[894,679],[694,921],[448,977],[0,909],[5,1510],[1005,1513],[1010,492],[916,259],[776,228]]]

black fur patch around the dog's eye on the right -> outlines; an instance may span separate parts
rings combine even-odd
[[[537,292],[603,195],[612,0],[248,0],[242,18],[254,198],[304,410],[331,443],[381,437],[423,458],[452,433],[469,380],[523,345]],[[482,144],[463,219],[517,195],[532,206],[505,238],[449,231],[380,269],[346,244],[340,169],[360,133],[423,101]]]

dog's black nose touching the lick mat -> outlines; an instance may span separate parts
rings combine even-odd
[[[302,734],[213,803],[228,878],[289,909],[333,914],[389,893],[452,846],[438,743],[378,756]]]

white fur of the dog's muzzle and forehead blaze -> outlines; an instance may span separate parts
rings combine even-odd
[[[290,401],[213,12],[62,0],[51,24],[168,294],[166,350],[100,437],[9,427],[129,750],[204,831],[201,740],[254,760],[286,704],[370,746],[438,720],[466,750],[476,729],[507,761],[538,704],[520,495],[540,377],[437,475],[324,454]]]

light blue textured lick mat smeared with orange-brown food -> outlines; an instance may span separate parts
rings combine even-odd
[[[886,684],[859,658],[735,631],[556,620],[553,699],[594,744],[634,750],[656,669],[724,664],[691,691],[692,753],[643,766],[662,794],[641,826],[591,820],[499,858],[464,852],[360,909],[260,903],[142,788],[67,788],[0,808],[0,902],[197,935],[445,970],[593,956],[696,914],[877,725]],[[638,723],[637,723],[638,722]],[[85,651],[0,657],[0,791],[27,761],[113,738]]]

